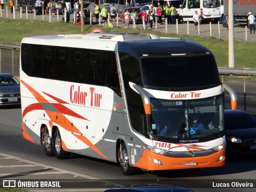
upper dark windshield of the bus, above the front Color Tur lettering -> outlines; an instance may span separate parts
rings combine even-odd
[[[212,55],[142,57],[145,86],[166,89],[216,86],[220,78]]]

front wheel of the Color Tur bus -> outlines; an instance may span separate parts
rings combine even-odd
[[[138,168],[129,165],[128,152],[124,143],[121,144],[121,148],[119,147],[118,150],[118,161],[121,167],[121,171],[124,175],[133,175],[136,173]]]

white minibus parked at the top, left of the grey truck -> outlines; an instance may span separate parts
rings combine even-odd
[[[180,9],[183,21],[194,21],[195,11],[201,15],[202,21],[219,20],[220,0],[184,0]]]

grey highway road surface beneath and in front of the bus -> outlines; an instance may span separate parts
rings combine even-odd
[[[0,108],[0,114],[0,181],[1,179],[62,181],[67,179],[74,182],[74,179],[78,181],[87,179],[86,182],[82,182],[82,189],[79,184],[74,186],[71,183],[70,188],[65,190],[60,188],[58,192],[74,191],[77,187],[79,189],[76,191],[103,191],[116,185],[138,183],[178,184],[189,187],[195,192],[255,191],[256,180],[251,179],[255,179],[256,175],[256,156],[236,157],[228,160],[226,165],[220,168],[142,171],[137,175],[124,176],[117,163],[78,155],[66,160],[48,157],[42,146],[32,144],[23,138],[20,108]],[[253,183],[254,188],[215,188],[212,182],[248,182]],[[40,190],[42,189],[30,189],[32,192],[40,192]]]

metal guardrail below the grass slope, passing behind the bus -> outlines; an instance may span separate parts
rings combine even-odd
[[[0,46],[13,49],[19,49],[19,44],[12,44],[6,42],[0,42]],[[243,74],[243,75],[256,75],[256,68],[231,68],[231,67],[218,67],[220,74]]]

